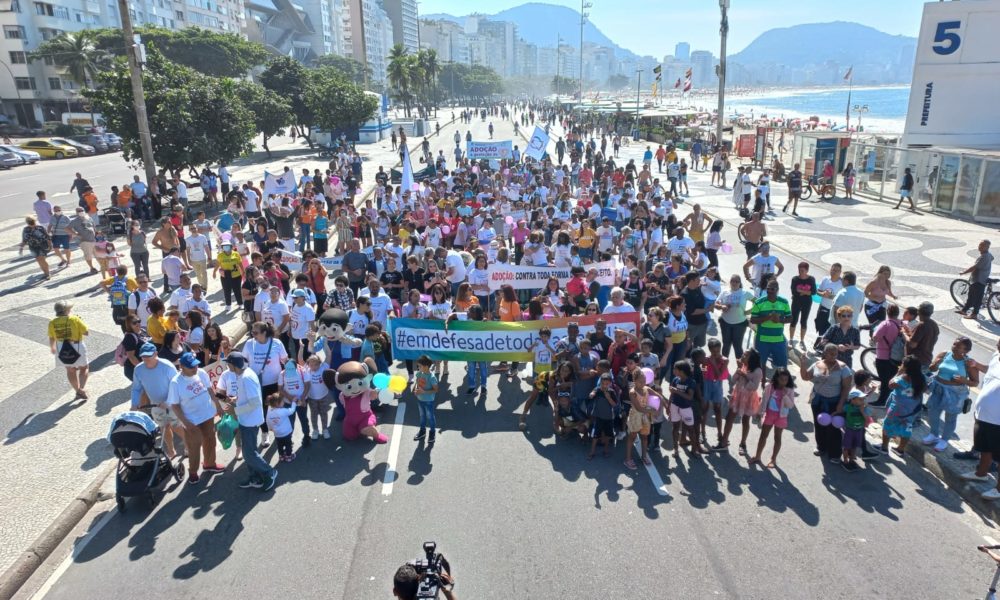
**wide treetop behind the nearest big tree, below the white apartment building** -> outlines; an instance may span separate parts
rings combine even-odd
[[[165,58],[215,77],[243,77],[271,54],[256,42],[233,33],[217,33],[199,27],[164,29],[138,27],[143,44]],[[97,47],[117,56],[125,55],[121,29],[92,30]]]

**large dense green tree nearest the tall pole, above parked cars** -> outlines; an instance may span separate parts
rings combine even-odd
[[[240,97],[240,83],[172,63],[153,48],[146,59],[142,83],[157,164],[178,171],[229,163],[253,150],[254,116]],[[122,137],[125,159],[141,161],[125,59],[117,58],[100,71],[97,83],[97,89],[85,90],[84,96]]]

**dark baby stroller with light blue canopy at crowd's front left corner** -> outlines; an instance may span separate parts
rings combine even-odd
[[[118,457],[115,470],[115,502],[125,512],[125,499],[145,496],[155,506],[168,480],[184,478],[184,464],[177,465],[163,454],[159,427],[146,413],[124,412],[111,423],[108,441]]]

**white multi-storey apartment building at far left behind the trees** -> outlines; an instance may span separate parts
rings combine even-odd
[[[11,0],[0,11],[0,61],[10,72],[0,76],[0,113],[21,125],[58,121],[64,112],[86,112],[80,88],[65,69],[51,61],[29,61],[28,56],[45,40],[61,33],[121,27],[118,4],[100,0]],[[243,0],[134,0],[129,13],[136,26],[166,29],[198,26],[218,32],[243,30]],[[7,69],[4,69],[7,71]]]

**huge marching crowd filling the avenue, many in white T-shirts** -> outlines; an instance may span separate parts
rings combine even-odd
[[[693,457],[726,452],[731,444],[749,464],[774,467],[782,432],[799,426],[795,416],[806,403],[816,455],[848,471],[888,454],[893,439],[891,450],[902,455],[924,414],[931,433],[919,441],[943,451],[958,415],[969,410],[970,387],[980,385],[974,442],[985,466],[967,477],[985,480],[992,453],[1000,452],[1000,355],[980,364],[968,356],[964,337],[937,352],[934,307],[897,304],[889,266],[867,282],[850,265],[822,274],[805,262],[786,268],[762,223],[770,189],[741,172],[738,185],[748,186],[743,208],[751,187],[759,201],[740,226],[747,249],[742,271],[724,273],[720,255],[732,251],[724,223],[698,204],[685,206],[688,160],[692,170],[711,164],[717,178],[728,165],[709,141],[683,157],[672,145],[649,148],[637,163],[618,157],[622,137],[551,107],[493,106],[466,111],[461,120],[477,117],[558,123],[565,135],[555,156],[517,156],[496,168],[463,157],[456,131],[457,151],[433,157],[433,175],[415,189],[393,185],[380,167],[374,193],[364,199],[360,161],[346,147],[325,173],[286,173],[298,182],[291,194],[265,194],[263,182],[230,186],[226,174],[219,179],[223,211],[213,220],[192,214],[175,184],[149,241],[143,217],[152,215],[137,210],[148,196],[143,185],[142,194],[133,190],[138,205],[121,206],[131,268],[98,232],[82,199],[68,218],[39,192],[22,247],[49,277],[48,252],[68,263],[69,238],[80,240],[85,260],[102,273],[109,316],[124,332],[116,360],[132,382],[132,407],[161,427],[168,454],[176,438],[184,439],[192,483],[199,471],[223,470],[215,458],[215,423],[228,413],[239,421],[237,443],[251,473],[244,486],[273,486],[277,470],[259,448],[275,443],[281,460],[294,460],[296,424],[301,447],[330,438],[331,418],[344,414],[334,386],[338,366],[372,359],[379,373],[388,373],[388,322],[395,317],[570,318],[565,335],[538,331],[530,372],[514,362],[468,362],[459,393],[485,393],[495,373],[513,381],[523,372],[530,388],[518,417],[522,430],[532,409],[540,409],[551,414],[558,435],[589,442],[589,457],[600,445],[605,456],[623,454],[628,469],[651,464],[650,454],[663,447]],[[150,246],[161,253],[156,272]],[[968,271],[976,283],[990,274],[988,241],[980,253]],[[327,268],[331,257],[339,259],[339,273]],[[594,264],[603,261],[619,265],[614,285],[598,281]],[[494,291],[491,264],[558,266],[571,277],[552,277],[537,290]],[[216,290],[222,305],[207,300]],[[347,343],[336,351],[317,339],[319,320],[331,308],[348,314]],[[87,327],[71,309],[69,302],[56,304],[49,339],[77,397],[86,399]],[[250,331],[241,351],[215,321],[234,311]],[[639,329],[609,330],[601,316],[617,313],[637,313]],[[876,348],[875,377],[855,368],[863,330]],[[807,332],[816,338],[808,348]],[[798,378],[789,370],[793,356]],[[213,382],[204,367],[218,362],[227,372]],[[447,395],[441,382],[449,365],[427,356],[404,364],[420,400],[417,439],[433,443],[434,406]],[[811,384],[807,402],[798,397],[798,380]],[[875,420],[882,437],[872,443],[865,431]],[[755,446],[751,423],[760,425]],[[385,441],[374,427],[365,431]],[[617,442],[624,449],[616,450]],[[997,490],[986,494],[1000,497]]]

